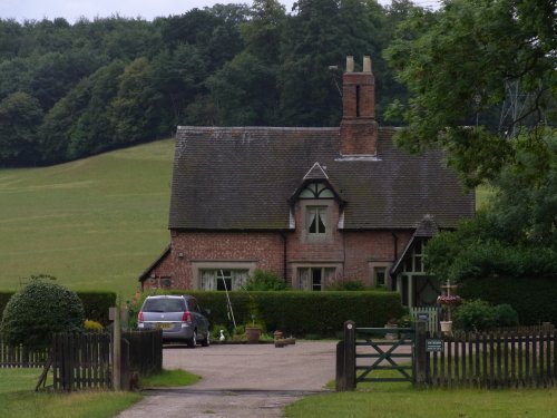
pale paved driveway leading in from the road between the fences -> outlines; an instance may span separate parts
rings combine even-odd
[[[165,348],[165,369],[202,376],[185,388],[147,390],[119,418],[275,418],[302,396],[334,379],[335,342]]]

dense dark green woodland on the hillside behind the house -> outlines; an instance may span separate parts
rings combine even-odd
[[[0,165],[59,163],[176,125],[334,126],[346,55],[372,56],[381,118],[405,97],[381,54],[414,9],[255,0],[153,22],[0,20]]]

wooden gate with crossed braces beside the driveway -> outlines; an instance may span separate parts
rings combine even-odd
[[[344,323],[344,340],[336,347],[336,390],[353,390],[363,381],[414,382],[416,329],[356,328]],[[394,376],[378,371],[394,370]]]

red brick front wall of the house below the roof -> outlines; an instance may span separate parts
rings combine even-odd
[[[170,278],[170,288],[193,289],[195,284],[192,262],[253,262],[257,269],[272,270],[292,283],[290,263],[336,263],[344,279],[367,281],[369,263],[392,262],[404,250],[412,232],[390,231],[339,231],[338,205],[333,205],[333,232],[331,242],[306,242],[302,233],[300,207],[296,207],[296,230],[286,234],[278,232],[177,232],[172,239],[172,249],[150,276],[145,289],[164,288],[164,279]],[[286,272],[284,261],[286,240]],[[397,241],[397,243],[395,243]],[[394,251],[398,254],[394,254]],[[179,254],[183,256],[179,256]]]

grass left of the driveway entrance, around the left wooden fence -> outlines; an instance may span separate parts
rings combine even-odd
[[[35,392],[41,369],[0,369],[0,417],[2,418],[104,418],[143,399],[139,392],[82,391]],[[199,380],[183,370],[163,370],[141,378],[144,387],[188,386]]]

